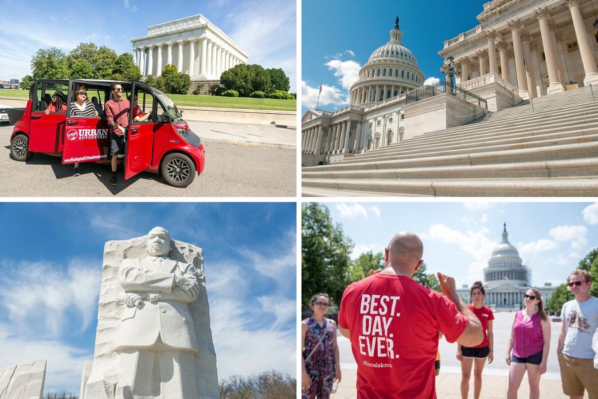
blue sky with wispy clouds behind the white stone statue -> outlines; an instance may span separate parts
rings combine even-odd
[[[93,359],[104,244],[162,226],[203,248],[218,378],[295,377],[296,206],[0,204],[0,367],[45,358],[45,391],[78,395]]]

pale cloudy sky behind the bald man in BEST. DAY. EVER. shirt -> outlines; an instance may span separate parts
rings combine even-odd
[[[355,243],[352,257],[383,251],[393,234],[417,233],[428,273],[453,275],[458,287],[482,280],[507,223],[509,242],[532,269],[532,284],[565,282],[598,246],[598,203],[328,202],[331,217]]]

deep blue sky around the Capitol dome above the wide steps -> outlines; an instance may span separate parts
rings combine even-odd
[[[348,104],[349,87],[376,48],[390,39],[399,17],[402,42],[426,78],[440,78],[438,56],[445,40],[479,25],[483,1],[361,0],[301,1],[301,102],[303,114],[318,99],[321,108]]]

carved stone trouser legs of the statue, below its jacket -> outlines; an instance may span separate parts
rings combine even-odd
[[[116,399],[196,399],[195,355],[165,345],[158,336],[149,348],[118,354]]]

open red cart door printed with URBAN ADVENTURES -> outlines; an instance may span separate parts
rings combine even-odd
[[[85,89],[80,89],[84,86]],[[85,91],[87,95],[101,93],[104,100],[107,92],[104,84],[89,81],[69,81],[68,109],[66,111],[66,127],[64,135],[64,151],[62,163],[89,162],[108,159],[110,133],[108,121],[98,112],[98,116],[71,115],[77,91]],[[97,97],[97,95],[96,95]],[[89,100],[86,98],[86,100]],[[97,111],[97,109],[96,109]]]

